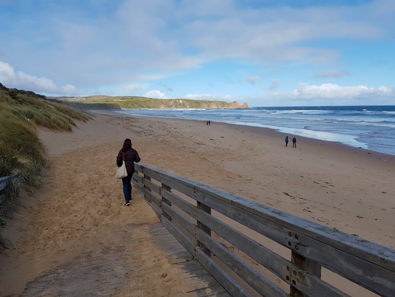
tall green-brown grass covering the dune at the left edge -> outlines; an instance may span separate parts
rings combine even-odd
[[[19,191],[41,187],[40,172],[45,165],[45,150],[40,143],[37,126],[71,131],[74,120],[91,117],[74,108],[29,91],[8,89],[0,84],[0,177],[20,173],[19,182],[10,183],[2,191],[0,227],[17,208]],[[1,244],[1,239],[0,239]]]

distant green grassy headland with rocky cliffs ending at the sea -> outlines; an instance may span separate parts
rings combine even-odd
[[[90,96],[84,98],[61,98],[62,100],[84,104],[109,104],[118,105],[126,109],[138,108],[241,108],[237,102],[227,103],[224,101],[209,101],[195,99],[152,99],[146,97],[109,97]],[[93,109],[93,108],[92,108]]]

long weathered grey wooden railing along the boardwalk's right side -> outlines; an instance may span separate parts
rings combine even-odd
[[[132,182],[162,224],[234,297],[251,294],[233,273],[261,296],[349,296],[321,279],[321,267],[379,296],[395,296],[395,250],[391,248],[144,164],[135,164],[135,169],[138,172]],[[182,198],[182,194],[193,200]],[[290,249],[291,261],[226,224],[211,210]],[[230,252],[211,232],[288,283],[290,293]],[[233,273],[226,272],[223,265]]]

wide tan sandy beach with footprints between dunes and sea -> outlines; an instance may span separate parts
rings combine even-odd
[[[45,186],[22,193],[20,212],[3,232],[11,248],[0,254],[0,296],[18,296],[46,270],[109,240],[122,243],[125,223],[158,222],[136,190],[131,206],[123,205],[114,176],[125,138],[141,163],[395,248],[395,156],[302,137],[297,148],[285,147],[285,136],[267,128],[112,114],[97,114],[71,133],[40,129],[48,152]],[[144,228],[135,230],[144,246],[154,245]],[[143,245],[130,242],[124,257],[168,261],[159,248],[136,259]],[[191,284],[178,273],[167,271],[168,282],[162,271],[144,282],[128,276],[116,296],[189,296]],[[322,278],[333,281],[329,273]],[[344,287],[351,296],[375,296]]]

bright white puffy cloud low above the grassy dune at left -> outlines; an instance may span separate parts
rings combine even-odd
[[[0,82],[7,87],[15,87],[38,93],[77,95],[80,92],[74,85],[57,86],[50,79],[36,77],[22,71],[15,72],[14,67],[0,61]]]

